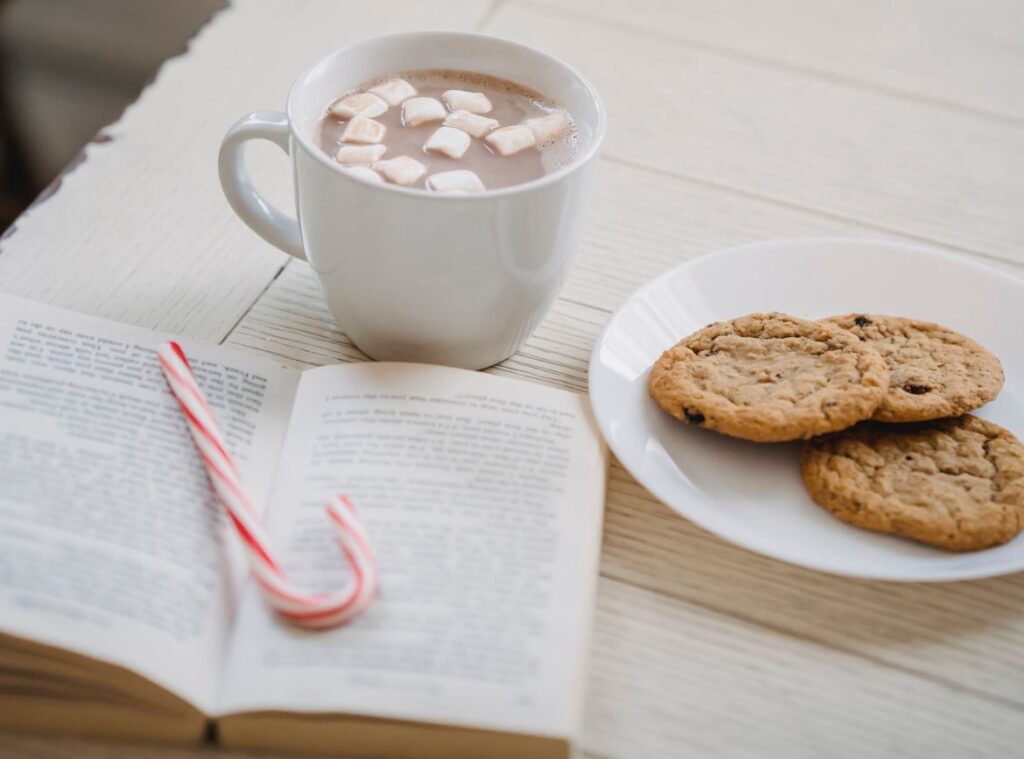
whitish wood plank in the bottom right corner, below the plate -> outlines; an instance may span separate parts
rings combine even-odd
[[[595,631],[601,756],[1020,754],[1017,710],[624,583],[602,581]]]

